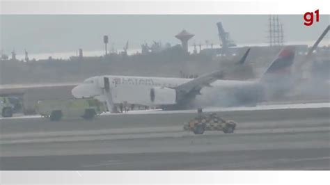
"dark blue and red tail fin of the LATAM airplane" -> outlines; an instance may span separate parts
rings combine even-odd
[[[294,53],[294,47],[284,47],[278,54],[277,58],[268,67],[267,71],[262,75],[261,79],[265,81],[278,81],[279,78],[290,75],[294,61]]]

